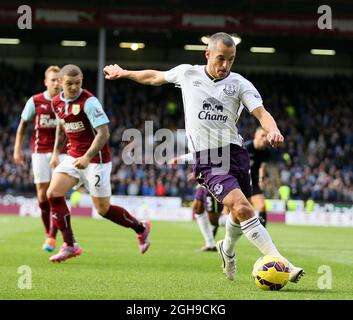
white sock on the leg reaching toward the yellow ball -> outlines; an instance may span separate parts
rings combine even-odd
[[[256,216],[240,222],[240,225],[244,235],[263,255],[281,256],[272,242],[270,234]]]

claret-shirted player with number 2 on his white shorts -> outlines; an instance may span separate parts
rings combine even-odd
[[[59,118],[51,159],[55,171],[47,196],[53,221],[63,235],[64,244],[56,255],[50,257],[50,261],[61,262],[82,253],[75,242],[70,211],[65,202],[65,195],[78,183],[82,183],[89,192],[100,215],[137,233],[140,252],[145,253],[150,246],[150,223],[140,222],[124,208],[110,204],[109,119],[98,99],[82,89],[83,74],[78,66],[64,66],[59,80],[63,91],[53,99],[53,108]],[[68,155],[57,165],[66,137]]]

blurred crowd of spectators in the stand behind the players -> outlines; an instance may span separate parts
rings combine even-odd
[[[44,91],[45,68],[34,65],[25,70],[0,64],[0,193],[35,194],[31,129],[24,145],[26,166],[15,166],[13,147],[27,99]],[[83,72],[83,87],[96,94],[97,72]],[[259,90],[285,137],[285,144],[272,151],[265,195],[278,198],[278,188],[287,185],[291,199],[353,203],[353,78],[240,73]],[[177,129],[184,128],[180,90],[173,85],[149,87],[127,80],[106,82],[104,109],[110,118],[113,194],[192,200],[195,185],[188,181],[190,165],[127,165],[122,157],[130,143],[123,141],[126,129],[140,130],[146,141],[144,148],[161,143],[152,135],[145,136],[145,121],[153,121],[154,132],[170,129],[176,144],[185,143],[185,136],[177,134]],[[238,128],[244,140],[253,138],[257,126],[255,118],[243,111]]]

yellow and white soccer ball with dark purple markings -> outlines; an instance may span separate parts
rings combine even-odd
[[[289,280],[289,263],[283,257],[263,256],[253,268],[255,284],[262,290],[280,290]]]

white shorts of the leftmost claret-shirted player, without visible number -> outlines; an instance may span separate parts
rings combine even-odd
[[[32,170],[34,183],[48,183],[53,175],[53,169],[50,166],[51,152],[32,153]],[[59,162],[62,162],[66,154],[59,155]]]

